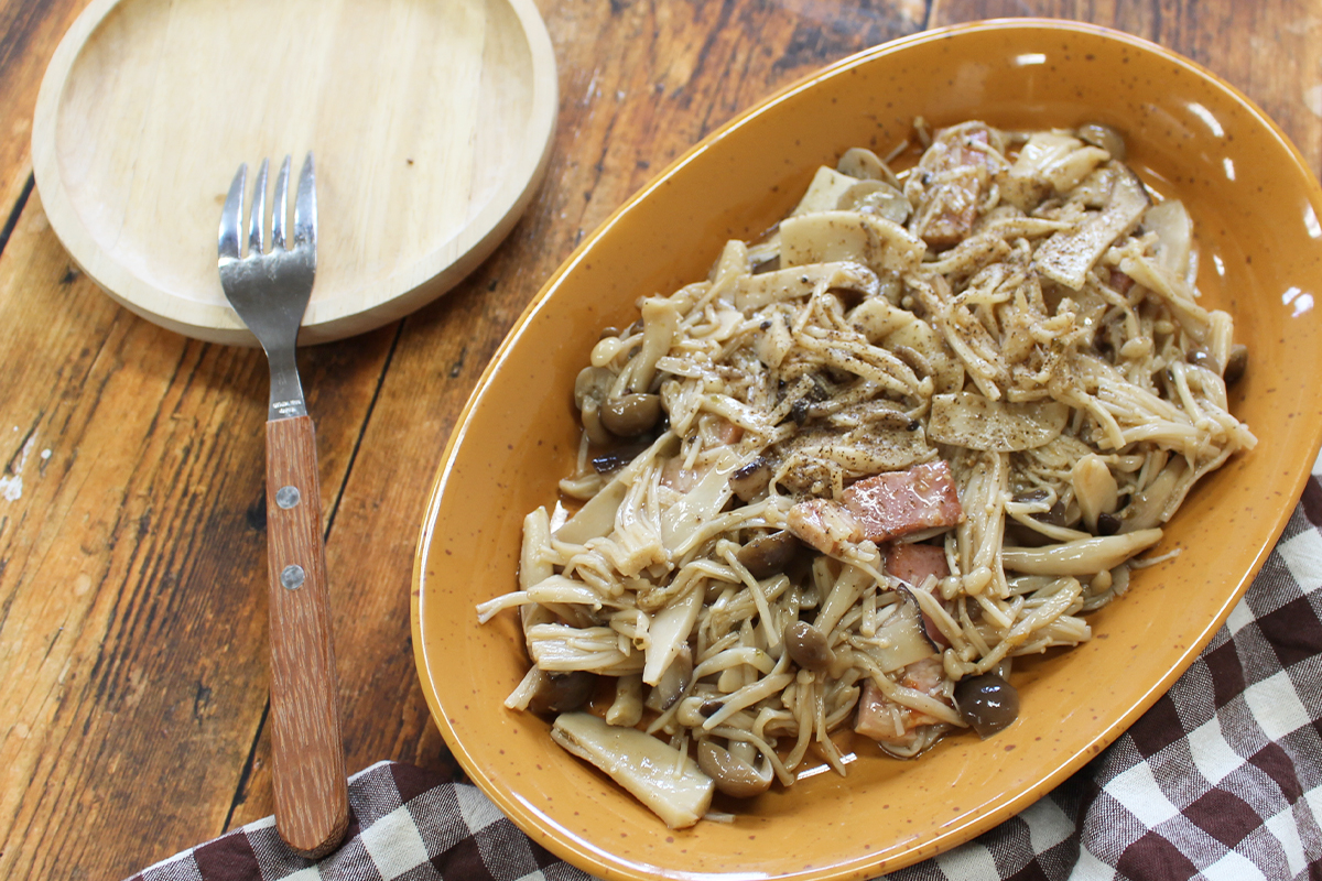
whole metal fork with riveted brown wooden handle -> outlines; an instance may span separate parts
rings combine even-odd
[[[275,823],[303,856],[329,853],[349,826],[344,746],[330,639],[316,433],[303,400],[295,347],[317,262],[312,153],[299,174],[288,242],[290,157],[275,182],[271,250],[264,247],[267,160],[253,185],[249,252],[241,252],[247,164],[221,211],[221,287],[262,343],[271,367],[266,423],[270,577],[271,752]]]

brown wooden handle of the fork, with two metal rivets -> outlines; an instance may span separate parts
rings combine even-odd
[[[308,416],[266,424],[266,530],[275,824],[293,851],[319,857],[344,839],[349,793],[330,641],[316,432]]]

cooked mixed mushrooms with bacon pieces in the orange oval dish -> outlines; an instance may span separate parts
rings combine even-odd
[[[1011,659],[1088,639],[1255,444],[1190,215],[1116,131],[915,136],[603,332],[576,472],[479,608],[521,616],[506,705],[672,827],[1013,724]]]

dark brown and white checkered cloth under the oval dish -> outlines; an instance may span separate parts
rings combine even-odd
[[[890,881],[1322,878],[1322,458],[1280,543],[1170,693],[1051,795]],[[320,863],[267,818],[131,881],[584,881],[476,789],[381,762]],[[738,866],[730,866],[731,870]]]

